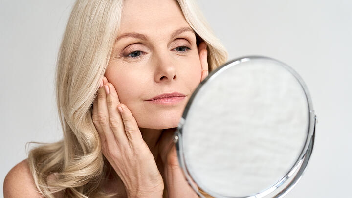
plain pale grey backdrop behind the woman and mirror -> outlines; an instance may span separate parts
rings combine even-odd
[[[56,55],[74,0],[0,0],[0,182],[25,143],[62,137]],[[308,167],[287,198],[342,198],[352,184],[352,1],[198,0],[229,60],[278,59],[308,86],[318,118]],[[2,196],[2,188],[0,197]]]

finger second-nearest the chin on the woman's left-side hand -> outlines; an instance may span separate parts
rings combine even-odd
[[[107,90],[107,106],[109,112],[109,125],[114,133],[117,141],[120,144],[127,144],[128,139],[125,133],[124,123],[121,114],[117,110],[117,105],[120,104],[115,87],[111,83],[104,85]]]

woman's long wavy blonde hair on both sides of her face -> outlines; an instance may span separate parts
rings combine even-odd
[[[193,0],[178,0],[178,4],[199,39],[207,44],[211,72],[225,63],[227,52]],[[54,198],[59,191],[67,198],[115,195],[101,188],[110,171],[115,172],[101,152],[91,113],[119,33],[122,5],[122,0],[77,0],[72,8],[58,52],[55,77],[63,139],[41,143],[28,154],[34,182],[48,198]],[[48,179],[53,173],[54,181]]]

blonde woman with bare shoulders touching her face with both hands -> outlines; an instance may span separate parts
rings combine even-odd
[[[11,169],[4,197],[198,197],[171,137],[226,59],[191,0],[77,0],[56,71],[64,138]]]

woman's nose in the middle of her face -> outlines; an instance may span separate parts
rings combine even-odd
[[[155,82],[172,82],[176,79],[176,66],[168,53],[155,54]]]

